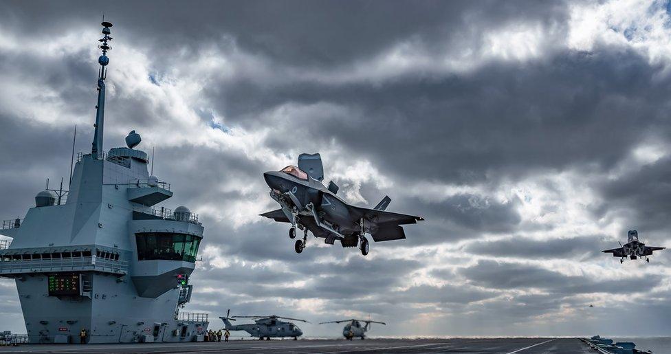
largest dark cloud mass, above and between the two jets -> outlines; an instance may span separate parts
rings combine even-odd
[[[286,97],[277,100],[353,107],[328,120],[292,124],[324,140],[336,138],[346,153],[363,154],[385,175],[471,183],[582,164],[608,168],[643,139],[650,124],[664,124],[666,115],[655,102],[665,101],[659,92],[669,82],[651,86],[659,68],[634,52],[607,51],[393,80],[384,89],[355,84],[324,87],[322,93],[299,85],[278,90]],[[257,93],[237,92],[241,100]]]

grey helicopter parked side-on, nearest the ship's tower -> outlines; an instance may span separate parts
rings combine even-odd
[[[252,337],[258,337],[259,340],[263,340],[263,338],[265,338],[265,340],[270,340],[270,338],[284,337],[293,337],[294,340],[297,340],[298,337],[303,335],[303,331],[301,331],[296,324],[285,322],[280,319],[307,322],[306,320],[298,320],[298,318],[280,317],[275,315],[230,317],[230,309],[225,317],[220,318],[225,325],[225,329],[228,329],[229,331],[245,331],[250,333]],[[254,319],[254,323],[232,324],[230,321],[234,321],[236,318],[252,318]]]

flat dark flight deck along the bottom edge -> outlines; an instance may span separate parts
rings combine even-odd
[[[0,353],[594,353],[577,338],[452,338],[371,340],[232,340],[197,343],[41,344]]]

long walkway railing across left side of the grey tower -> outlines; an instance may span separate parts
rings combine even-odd
[[[128,262],[89,257],[14,259],[11,255],[0,257],[0,274],[34,272],[97,271],[113,274],[128,274]]]

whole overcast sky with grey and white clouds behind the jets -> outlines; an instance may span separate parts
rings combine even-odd
[[[671,252],[599,253],[629,229],[671,247],[665,1],[3,1],[0,219],[67,179],[75,124],[90,149],[102,11],[104,149],[135,129],[163,205],[200,214],[186,309],[211,327],[231,309],[388,322],[371,335],[670,333]],[[316,152],[347,201],[426,221],[366,257],[296,254],[258,216],[262,174]],[[0,316],[25,332],[13,280]]]

